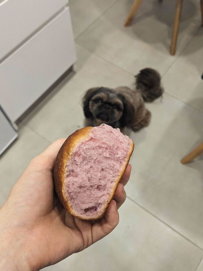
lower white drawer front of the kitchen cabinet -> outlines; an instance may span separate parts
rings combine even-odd
[[[14,122],[76,61],[69,8],[0,65],[0,104]]]

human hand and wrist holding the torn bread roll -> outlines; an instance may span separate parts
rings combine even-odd
[[[0,209],[0,270],[40,270],[84,250],[109,234],[119,222],[117,209],[126,199],[128,165],[114,200],[96,222],[70,215],[54,190],[53,167],[65,139],[32,159]]]

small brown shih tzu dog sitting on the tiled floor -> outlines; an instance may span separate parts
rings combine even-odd
[[[152,102],[163,94],[161,77],[154,69],[146,68],[135,78],[135,90],[129,87],[88,89],[83,98],[83,110],[92,126],[106,123],[113,128],[126,126],[137,131],[149,124],[151,113],[144,101]]]

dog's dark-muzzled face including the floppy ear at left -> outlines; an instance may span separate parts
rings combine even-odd
[[[84,96],[84,113],[99,123],[111,124],[119,121],[123,115],[124,103],[113,89],[100,87],[89,89]]]

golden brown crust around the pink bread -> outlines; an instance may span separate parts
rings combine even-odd
[[[130,160],[130,157],[133,153],[133,149],[134,149],[134,143],[132,141],[131,143],[131,149],[128,153],[128,157],[126,159],[126,164],[122,170],[122,172],[120,173],[119,177],[117,178],[117,181],[115,183],[113,192],[111,194],[111,197],[108,199],[108,202],[106,203],[106,206],[104,208],[103,213],[100,216],[94,217],[94,218],[85,218],[83,216],[80,216],[78,214],[76,214],[73,209],[70,206],[70,202],[67,200],[66,196],[64,195],[64,181],[65,181],[65,172],[66,172],[66,164],[67,161],[70,159],[71,154],[75,148],[75,146],[88,139],[90,131],[93,129],[94,127],[86,127],[86,128],[82,128],[79,130],[76,130],[73,134],[71,134],[66,141],[64,142],[64,144],[61,146],[58,154],[57,154],[57,158],[55,161],[55,166],[54,166],[54,183],[55,183],[55,190],[56,193],[58,195],[58,198],[60,200],[60,202],[63,204],[64,208],[73,216],[76,216],[80,219],[83,220],[97,220],[100,219],[104,216],[104,213],[109,205],[109,203],[111,202],[111,200],[113,199],[114,193],[117,189],[117,186],[119,184],[119,181],[121,180],[127,166],[128,166],[128,162]]]

